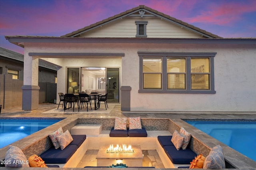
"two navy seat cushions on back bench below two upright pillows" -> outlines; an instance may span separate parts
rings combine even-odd
[[[147,137],[147,131],[144,127],[142,129],[127,129],[127,130],[114,130],[112,127],[110,137]]]

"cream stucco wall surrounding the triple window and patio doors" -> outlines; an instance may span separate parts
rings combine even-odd
[[[40,44],[44,49],[30,51],[48,53],[124,53],[122,59],[58,59],[57,92],[65,92],[67,67],[120,67],[120,86],[132,88],[131,111],[256,111],[256,52],[255,45],[225,44],[131,44],[92,43]],[[214,85],[216,94],[159,94],[138,93],[138,51],[150,52],[215,52]],[[59,56],[56,56],[59,57]],[[122,96],[121,96],[122,98]]]

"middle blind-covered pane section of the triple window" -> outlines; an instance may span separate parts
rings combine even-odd
[[[186,58],[167,58],[167,89],[186,89]]]

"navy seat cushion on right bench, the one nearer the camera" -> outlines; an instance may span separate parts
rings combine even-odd
[[[197,156],[191,149],[177,150],[174,146],[164,146],[164,151],[174,164],[190,164]]]

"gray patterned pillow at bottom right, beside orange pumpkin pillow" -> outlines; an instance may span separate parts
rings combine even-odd
[[[212,148],[209,155],[204,160],[204,169],[223,169],[225,168],[224,154],[222,147],[217,145]]]

